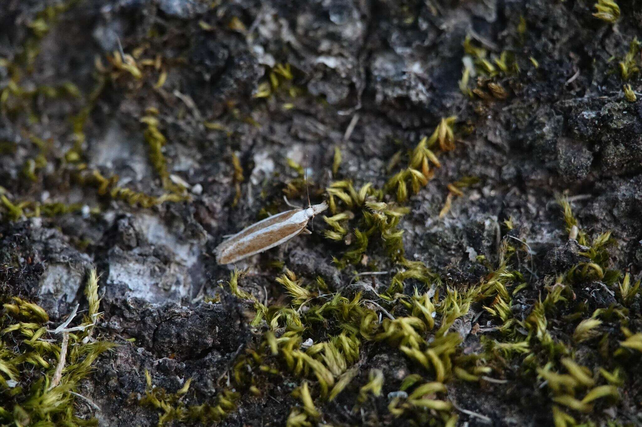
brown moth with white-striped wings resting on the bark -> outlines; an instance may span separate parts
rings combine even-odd
[[[214,253],[218,264],[241,261],[274,246],[285,243],[297,234],[310,234],[308,221],[327,209],[327,203],[298,207],[265,218],[230,236],[216,247]]]

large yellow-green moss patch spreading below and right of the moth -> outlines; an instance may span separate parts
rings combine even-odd
[[[340,191],[331,194],[345,207],[354,209],[363,204],[371,214],[388,209],[385,202],[360,197],[360,191],[351,183],[334,188]],[[369,193],[370,189],[363,194]],[[256,385],[263,383],[261,376],[301,378],[302,384],[294,394],[302,405],[292,408],[288,425],[307,426],[322,421],[324,413],[320,408],[324,402],[347,389],[359,390],[354,410],[381,394],[386,379],[381,371],[373,370],[367,382],[355,383],[364,343],[385,343],[412,362],[412,373],[388,402],[388,412],[395,417],[417,424],[455,426],[458,415],[448,398],[448,389],[454,382],[468,382],[475,387],[475,383],[503,381],[497,380],[498,376],[519,375],[546,387],[551,423],[577,425],[578,420],[620,399],[619,388],[626,381],[623,372],[627,370],[621,361],[634,357],[634,352],[642,352],[642,334],[630,332],[625,326],[629,324],[625,307],[638,298],[639,282],[632,284],[630,276],[625,275],[618,283],[621,275],[609,264],[609,247],[613,244],[610,233],[591,238],[579,227],[568,200],[560,198],[560,205],[566,232],[586,247],[582,255],[589,261],[557,277],[545,278],[543,294],[540,298],[534,295],[535,302],[524,317],[514,314],[513,299],[519,293],[532,292],[532,285],[512,267],[512,257],[520,249],[512,246],[514,239],[508,236],[501,239],[496,265],[481,260],[486,262],[489,273],[467,288],[444,287],[426,266],[401,257],[397,261],[400,269],[388,289],[381,293],[369,289],[376,293],[376,300],[365,298],[361,292],[351,298],[342,292],[328,295],[324,280],[309,283],[286,270],[277,282],[290,295],[290,302],[266,306],[241,290],[238,273],[234,273],[230,278],[232,293],[254,301],[257,314],[253,325],[265,327],[261,342],[256,348],[248,348],[235,364],[236,383],[250,392],[252,387],[254,392],[260,392]],[[347,235],[345,222],[351,216],[336,213],[325,220],[333,232]],[[516,230],[512,218],[505,226],[509,231]],[[363,239],[363,234],[358,232],[356,236]],[[369,246],[359,245],[360,257],[367,254]],[[416,286],[412,294],[404,293],[410,280],[424,286],[424,290]],[[574,289],[594,280],[617,289],[621,305],[586,312],[586,304],[577,301]],[[464,354],[462,337],[451,327],[473,307],[489,316],[496,325],[492,328],[495,332],[482,335],[483,350]],[[563,332],[553,327],[560,325],[560,312],[568,313]],[[612,330],[616,325],[620,325],[621,335],[611,337],[606,328]],[[577,357],[581,346],[600,348],[602,362],[593,367],[582,363]]]

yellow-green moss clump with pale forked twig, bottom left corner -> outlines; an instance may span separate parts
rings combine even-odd
[[[91,374],[101,353],[115,345],[92,337],[101,316],[93,270],[85,296],[89,310],[82,323],[69,327],[65,322],[55,330],[49,329],[49,316],[39,305],[16,296],[0,297],[0,423],[98,425],[96,419],[74,415],[74,404],[82,401],[78,399],[80,381]]]

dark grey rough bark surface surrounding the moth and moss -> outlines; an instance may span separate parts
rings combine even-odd
[[[230,293],[225,282],[231,266],[217,265],[213,250],[223,236],[256,222],[262,208],[272,213],[289,209],[283,190],[301,177],[287,159],[306,168],[312,203],[324,200],[324,189],[338,179],[351,179],[356,188],[366,182],[383,188],[407,163],[407,152],[451,115],[457,117],[455,150],[440,154],[442,167],[434,168],[433,179],[405,203],[410,213],[399,228],[408,259],[424,262],[445,284],[471,286],[489,273],[478,256],[496,262],[498,239],[507,234],[499,224],[512,218],[515,228],[508,234],[519,246],[514,268],[532,289],[514,298],[512,312],[526,318],[537,298],[546,296],[545,277],[587,262],[586,248],[569,241],[555,204],[555,195],[566,192],[577,196],[571,200],[582,230],[591,235],[613,231],[618,244],[609,249],[611,266],[629,272],[634,282],[642,265],[642,101],[640,95],[636,102],[625,99],[618,62],[634,36],[642,34],[642,3],[618,3],[621,16],[611,25],[593,17],[593,2],[584,0],[77,2],[48,23],[37,40],[39,54],[21,68],[19,85],[33,90],[71,81],[80,95],[10,95],[4,102],[0,195],[13,203],[62,202],[79,204],[78,209],[12,218],[6,205],[0,207],[0,291],[38,302],[59,323],[83,303],[85,272],[96,266],[105,316],[94,334],[121,345],[96,361],[79,391],[100,412],[82,401],[76,408],[97,417],[100,425],[158,422],[157,410],[137,404],[146,390],[145,369],[155,386],[168,391],[193,378],[186,404],[212,402],[227,387],[225,374],[234,360],[265,331],[265,325],[250,326],[252,305]],[[1,2],[0,58],[22,61],[33,38],[30,24],[48,4],[56,3]],[[521,22],[525,31],[519,29]],[[473,77],[469,87],[481,88],[487,99],[460,90],[463,44],[470,35],[489,58],[507,51],[519,63],[519,72],[491,77],[504,94],[494,96],[487,81]],[[121,49],[137,55],[138,63],[151,60],[139,65],[140,78],[107,60]],[[638,50],[638,65],[639,55]],[[96,70],[95,58],[107,71]],[[270,70],[279,63],[291,65],[288,84],[296,86],[296,96],[286,91],[254,96],[261,83],[269,84]],[[0,67],[0,93],[14,77],[11,67]],[[159,77],[166,77],[162,85]],[[90,99],[100,78],[104,86]],[[627,83],[634,92],[642,91],[639,72]],[[70,161],[65,154],[77,140],[70,118],[89,104],[80,159]],[[148,125],[141,123],[150,108],[157,110],[152,115],[166,138],[160,147],[168,168],[165,179],[150,161]],[[31,136],[44,141],[45,148]],[[333,174],[335,147],[342,162]],[[388,170],[400,151],[399,165]],[[46,161],[30,179],[26,165],[39,154]],[[149,209],[131,205],[80,182],[81,163],[105,177],[118,175],[117,185],[148,195],[171,192],[169,186],[179,177],[187,184],[189,200]],[[479,182],[453,198],[449,213],[440,218],[447,184],[467,176]],[[385,197],[394,199],[394,191]],[[290,202],[307,204],[305,191],[295,191]],[[372,282],[367,278],[374,288],[366,296],[376,297],[374,291],[387,286],[395,265],[374,245],[368,261],[338,270],[332,256],[340,257],[346,246],[325,239],[325,229],[317,218],[311,236],[240,262],[238,267],[248,270],[239,286],[260,302],[282,305],[287,298],[274,280],[281,272],[272,261],[284,263],[308,283],[323,277],[328,293],[351,283],[353,271],[376,265],[391,271]],[[528,244],[530,254],[517,239]],[[412,294],[414,286],[421,284],[408,280],[406,293]],[[577,301],[586,300],[589,316],[618,303],[614,291],[596,282],[573,291]],[[350,287],[344,294],[351,294]],[[205,302],[214,295],[219,300]],[[629,307],[632,332],[640,326],[637,298]],[[465,352],[481,348],[481,334],[499,337],[492,330],[471,334],[475,326],[497,325],[482,309],[490,302],[476,303],[453,325],[463,331]],[[564,320],[571,312],[551,315],[549,328],[572,335],[577,322],[569,329]],[[619,326],[609,330],[620,334]],[[135,341],[124,341],[130,338]],[[576,359],[600,364],[595,342],[574,351]],[[507,372],[518,370],[517,360],[503,362]],[[412,423],[412,417],[401,421],[388,414],[386,406],[388,393],[417,372],[414,362],[383,342],[367,342],[359,363],[354,383],[338,398],[329,403],[315,399],[322,413],[318,422]],[[633,373],[639,357],[630,364]],[[372,368],[383,370],[383,394],[353,413],[359,387]],[[496,426],[553,423],[541,379],[532,382],[510,373],[502,379],[449,383],[448,398]],[[300,378],[284,369],[264,381],[256,384],[258,396],[241,393],[238,408],[221,425],[285,425],[291,407],[300,405],[291,396]],[[640,391],[639,380],[628,378],[620,401],[589,415],[573,414],[596,424],[612,417],[641,423]],[[459,423],[465,422],[489,425],[460,413]]]

